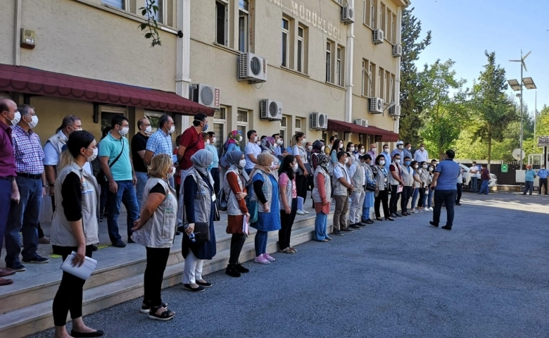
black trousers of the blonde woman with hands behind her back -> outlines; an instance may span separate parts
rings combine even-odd
[[[162,281],[164,270],[170,256],[170,248],[149,248],[147,250],[147,267],[145,268],[143,303],[147,306],[162,305]]]

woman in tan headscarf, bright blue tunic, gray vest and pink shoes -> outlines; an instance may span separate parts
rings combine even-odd
[[[258,221],[252,223],[258,232],[255,234],[255,259],[256,263],[269,264],[274,258],[267,253],[268,232],[280,230],[280,204],[277,179],[272,175],[271,154],[259,154],[258,164],[251,172],[253,184],[252,200],[258,204]]]

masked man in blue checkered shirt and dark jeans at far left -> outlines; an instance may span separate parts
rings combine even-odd
[[[48,263],[49,259],[40,256],[38,249],[38,220],[42,196],[46,194],[48,184],[44,174],[44,151],[38,134],[32,128],[38,124],[38,118],[32,106],[23,104],[18,107],[20,121],[13,126],[13,151],[17,176],[15,183],[20,194],[19,201],[9,208],[6,227],[6,268],[13,271],[25,271],[24,263]],[[21,251],[19,232],[23,234]]]

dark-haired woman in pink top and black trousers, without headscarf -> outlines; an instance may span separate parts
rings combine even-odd
[[[294,155],[284,157],[279,169],[278,185],[280,188],[280,230],[278,232],[279,252],[296,253],[290,246],[291,225],[294,224],[297,211],[296,188],[297,161]]]

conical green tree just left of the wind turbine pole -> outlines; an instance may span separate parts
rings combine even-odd
[[[517,120],[515,105],[505,96],[507,82],[505,69],[496,65],[496,52],[484,51],[488,63],[484,65],[478,82],[473,86],[474,111],[479,115],[480,124],[475,132],[484,142],[488,142],[488,165],[492,158],[492,142],[503,141],[505,130]]]

